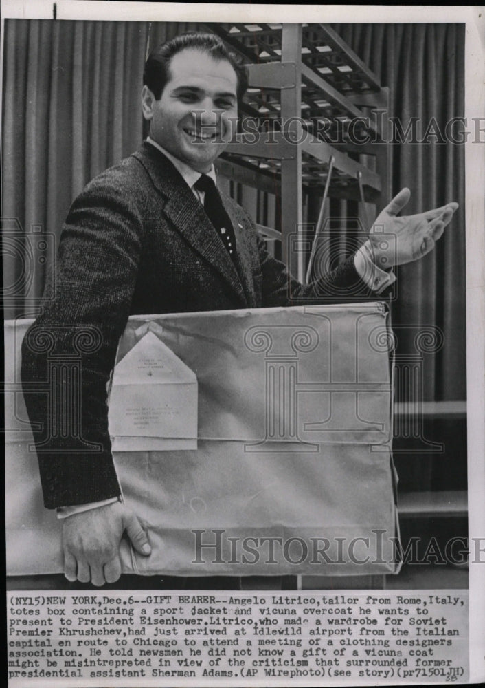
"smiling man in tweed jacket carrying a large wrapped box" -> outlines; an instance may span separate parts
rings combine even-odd
[[[409,199],[403,189],[376,219],[395,235],[392,251],[371,229],[355,256],[300,285],[268,255],[243,208],[216,189],[213,163],[232,136],[246,85],[244,67],[212,34],[159,47],[142,91],[150,136],[92,180],[69,210],[54,279],[23,342],[22,379],[30,420],[45,429],[35,433],[41,482],[45,506],[63,518],[70,581],[117,581],[125,531],[138,552],[150,554],[139,520],[120,500],[108,431],[106,383],[128,316],[291,305],[289,294],[301,303],[330,288],[361,290],[361,280],[368,288],[379,283],[379,293],[394,279],[379,266],[425,255],[456,208],[396,217]],[[97,333],[97,345],[82,354],[79,423],[62,409],[56,416],[56,405],[35,389],[47,375],[42,337],[54,345],[50,355],[69,357],[87,330]],[[59,380],[59,399],[62,387]]]

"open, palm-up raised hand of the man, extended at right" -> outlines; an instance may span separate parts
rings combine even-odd
[[[429,253],[458,208],[458,203],[452,202],[425,213],[396,217],[410,197],[409,189],[401,189],[370,228],[365,245],[376,266],[383,270]]]

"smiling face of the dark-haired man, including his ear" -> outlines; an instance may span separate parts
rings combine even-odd
[[[232,138],[236,87],[236,72],[227,60],[193,48],[181,50],[172,58],[160,100],[146,86],[142,92],[151,138],[193,169],[209,171]]]

